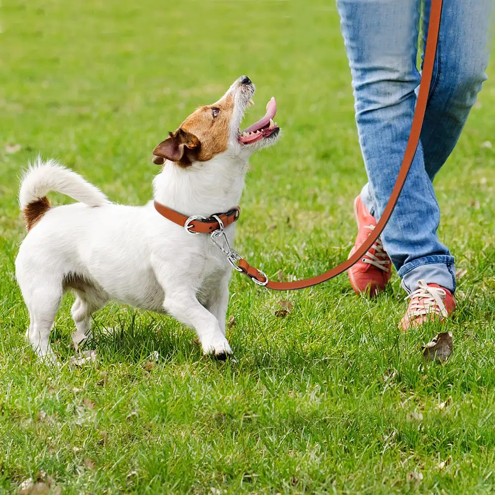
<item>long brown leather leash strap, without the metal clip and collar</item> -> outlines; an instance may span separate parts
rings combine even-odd
[[[419,86],[419,94],[416,100],[416,108],[414,111],[414,117],[412,119],[411,133],[409,134],[409,140],[407,141],[407,146],[404,152],[404,158],[402,159],[402,164],[397,176],[396,184],[390,195],[389,202],[385,207],[382,217],[380,218],[378,224],[376,225],[373,233],[368,237],[368,239],[356,249],[356,251],[350,256],[346,261],[340,263],[335,268],[328,270],[321,275],[316,277],[297,280],[294,282],[274,282],[268,280],[266,275],[260,270],[249,265],[249,263],[240,257],[237,262],[239,268],[238,271],[246,274],[253,282],[258,285],[267,287],[274,291],[292,291],[296,289],[304,289],[306,287],[312,287],[322,282],[326,282],[331,278],[340,275],[341,273],[348,270],[352,265],[357,263],[359,259],[364,256],[366,251],[375,244],[377,239],[380,237],[383,229],[387,225],[387,222],[394,211],[397,203],[397,199],[402,191],[404,182],[407,178],[409,169],[411,168],[412,160],[416,153],[416,149],[419,144],[419,139],[421,135],[421,128],[423,127],[423,119],[425,116],[426,105],[428,103],[428,94],[430,92],[430,85],[433,76],[433,68],[435,65],[435,56],[437,54],[438,45],[438,35],[440,31],[440,19],[442,17],[442,0],[432,0],[431,11],[430,11],[430,23],[428,28],[428,37],[426,40],[425,57],[423,61],[423,72],[421,74],[421,83]],[[236,253],[237,254],[237,253]],[[236,266],[234,265],[236,268]]]

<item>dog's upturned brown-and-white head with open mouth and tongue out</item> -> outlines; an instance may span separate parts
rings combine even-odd
[[[211,160],[224,152],[248,157],[275,143],[280,128],[273,122],[277,103],[272,98],[263,118],[240,131],[241,120],[253,103],[254,84],[241,76],[225,95],[211,105],[200,106],[169,137],[153,149],[153,162],[170,160],[182,167]]]

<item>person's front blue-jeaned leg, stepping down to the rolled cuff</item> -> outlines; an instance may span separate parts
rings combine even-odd
[[[379,219],[402,162],[416,103],[419,0],[338,0],[356,122],[369,186],[364,205]],[[420,143],[383,245],[399,275],[428,266],[428,283],[455,290],[454,258],[438,239],[440,210]],[[405,270],[406,271],[406,270]],[[409,288],[414,290],[415,288]]]

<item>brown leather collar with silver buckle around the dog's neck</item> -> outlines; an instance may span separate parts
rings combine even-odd
[[[184,227],[191,234],[211,234],[215,230],[223,230],[237,221],[239,215],[241,214],[241,208],[236,206],[226,213],[215,213],[214,215],[210,215],[208,218],[200,215],[188,217],[173,210],[172,208],[169,208],[168,206],[165,206],[164,204],[159,203],[158,201],[154,201],[153,204],[155,210],[161,216],[164,216],[171,222]]]

